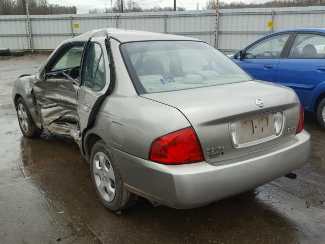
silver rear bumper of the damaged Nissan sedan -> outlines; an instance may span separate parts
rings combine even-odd
[[[215,164],[162,165],[111,148],[124,184],[152,201],[194,208],[262,186],[304,165],[310,135]]]

